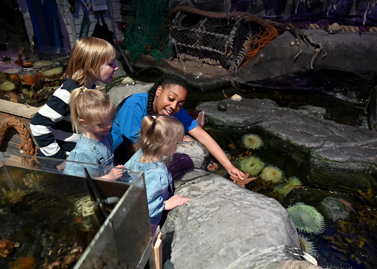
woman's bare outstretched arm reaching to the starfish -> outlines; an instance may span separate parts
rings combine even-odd
[[[242,173],[241,170],[233,166],[233,164],[230,162],[230,160],[225,155],[220,146],[216,143],[216,141],[200,126],[196,126],[187,133],[201,142],[204,147],[207,148],[208,152],[211,153],[212,156],[216,158],[216,160],[218,160],[218,162],[228,171],[231,176],[238,177],[239,179],[244,179],[245,174]]]

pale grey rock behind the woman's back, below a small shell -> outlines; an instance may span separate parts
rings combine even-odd
[[[130,95],[135,93],[142,93],[148,92],[149,89],[153,86],[152,83],[143,83],[140,81],[136,81],[135,85],[123,86],[117,85],[112,87],[107,95],[109,95],[110,101],[113,102],[114,105],[118,105],[124,98],[127,98]]]

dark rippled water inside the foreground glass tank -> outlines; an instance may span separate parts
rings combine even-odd
[[[1,168],[0,240],[8,249],[0,249],[0,268],[47,268],[54,263],[73,267],[100,228],[97,207],[83,182]]]

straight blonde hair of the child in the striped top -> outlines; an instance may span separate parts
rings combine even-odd
[[[96,37],[84,37],[76,40],[69,56],[66,78],[87,85],[87,72],[97,78],[101,66],[111,63],[116,56],[115,48],[106,40]]]

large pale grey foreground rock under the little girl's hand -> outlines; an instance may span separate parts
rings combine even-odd
[[[293,221],[276,200],[204,170],[173,178],[175,194],[190,198],[162,226],[162,253],[176,269],[253,268],[287,260],[288,248],[299,248]]]

